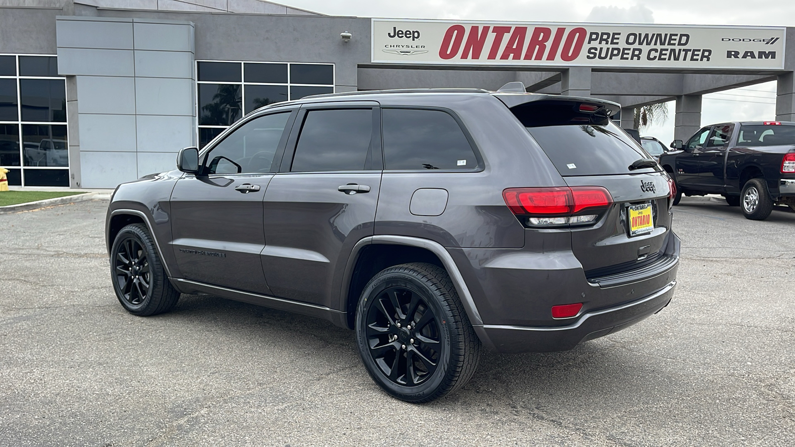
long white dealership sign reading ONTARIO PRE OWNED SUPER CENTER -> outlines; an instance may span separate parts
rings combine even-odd
[[[785,28],[373,19],[387,64],[784,68]]]

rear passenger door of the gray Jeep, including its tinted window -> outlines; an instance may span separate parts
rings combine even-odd
[[[275,296],[332,307],[334,278],[355,243],[373,235],[378,122],[371,102],[306,107],[298,115],[265,194],[262,263]]]

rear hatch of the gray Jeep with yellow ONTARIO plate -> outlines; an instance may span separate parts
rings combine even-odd
[[[668,176],[608,118],[619,105],[586,98],[541,98],[503,102],[573,191],[607,189],[612,201],[593,222],[568,225],[572,251],[588,281],[617,286],[653,276],[665,270],[666,263],[673,265],[675,260],[666,257],[665,250],[671,228]]]

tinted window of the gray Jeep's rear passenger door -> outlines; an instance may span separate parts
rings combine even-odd
[[[372,109],[308,111],[293,156],[293,172],[370,169]]]

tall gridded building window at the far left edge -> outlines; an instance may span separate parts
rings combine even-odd
[[[9,185],[68,186],[67,134],[56,56],[0,54],[0,167]]]

